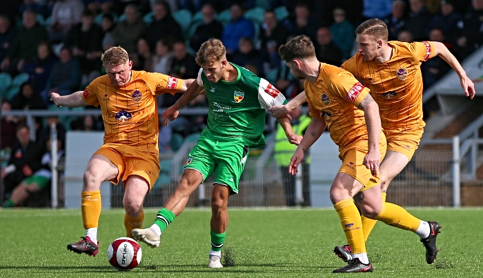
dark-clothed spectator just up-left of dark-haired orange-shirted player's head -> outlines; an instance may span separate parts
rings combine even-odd
[[[264,62],[269,68],[277,68],[281,59],[278,54],[279,46],[286,42],[288,30],[283,23],[277,22],[273,10],[266,10],[264,23],[260,26],[260,52]]]

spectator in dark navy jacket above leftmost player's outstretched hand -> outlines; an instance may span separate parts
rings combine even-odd
[[[57,92],[59,95],[70,95],[79,89],[80,84],[81,67],[79,62],[72,58],[68,48],[62,48],[60,59],[52,67],[46,90],[43,90],[41,97],[47,105],[50,105],[51,92]]]

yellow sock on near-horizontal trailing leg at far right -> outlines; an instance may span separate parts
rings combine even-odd
[[[374,219],[383,221],[385,224],[395,226],[396,228],[413,232],[416,232],[417,227],[421,223],[420,219],[413,217],[407,210],[394,203],[382,203],[382,210]]]

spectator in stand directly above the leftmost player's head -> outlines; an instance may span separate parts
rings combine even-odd
[[[137,41],[146,34],[146,26],[144,26],[144,21],[139,19],[134,4],[128,4],[124,8],[124,14],[126,20],[117,23],[116,28],[112,30],[112,37],[114,37],[116,44],[126,49],[128,53],[135,53]]]

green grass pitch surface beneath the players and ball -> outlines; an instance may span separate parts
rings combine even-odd
[[[411,209],[442,225],[434,264],[412,232],[378,223],[367,242],[371,277],[483,277],[482,209]],[[157,210],[146,210],[144,226]],[[161,237],[157,249],[141,244],[141,265],[119,272],[107,260],[109,244],[124,237],[124,210],[104,210],[97,257],[68,252],[85,235],[79,210],[0,210],[0,277],[335,277],[344,266],[332,252],[346,243],[333,209],[229,209],[222,262],[206,268],[210,249],[208,209],[187,209]]]

